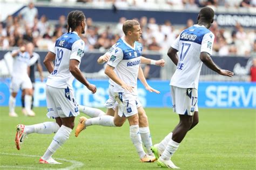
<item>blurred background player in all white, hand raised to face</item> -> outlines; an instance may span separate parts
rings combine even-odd
[[[15,103],[16,96],[21,88],[25,93],[25,113],[28,116],[35,116],[31,111],[31,102],[32,102],[32,83],[28,75],[28,66],[33,65],[37,60],[38,56],[33,56],[30,58],[30,55],[26,51],[26,46],[22,46],[18,51],[12,53],[14,58],[14,70],[12,70],[11,84],[10,84],[10,98],[9,98],[9,116],[18,117],[15,112]]]

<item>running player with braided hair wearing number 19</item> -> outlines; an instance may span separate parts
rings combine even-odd
[[[71,11],[68,15],[68,33],[56,40],[55,48],[46,55],[44,64],[49,73],[46,81],[47,116],[54,117],[55,122],[44,122],[36,125],[18,125],[16,146],[19,150],[24,136],[30,133],[56,133],[53,140],[39,159],[41,164],[60,164],[52,159],[53,153],[68,140],[74,127],[74,120],[79,115],[75,102],[72,82],[74,77],[83,83],[92,93],[96,87],[90,84],[79,69],[84,54],[84,41],[80,36],[85,33],[85,16],[82,11]],[[53,66],[52,61],[55,60]]]

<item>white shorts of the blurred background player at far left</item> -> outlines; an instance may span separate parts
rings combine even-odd
[[[29,76],[11,77],[10,93],[17,93],[19,89],[32,89],[32,83]]]

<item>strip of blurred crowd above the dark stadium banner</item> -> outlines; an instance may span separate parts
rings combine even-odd
[[[6,2],[30,2],[31,0],[2,0]],[[34,0],[34,2],[55,2],[55,3],[87,3],[93,5],[106,5],[114,3],[117,8],[138,7],[141,9],[190,9],[211,5],[212,8],[250,8],[256,6],[256,0]]]

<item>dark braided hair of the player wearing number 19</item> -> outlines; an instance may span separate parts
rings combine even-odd
[[[68,15],[68,32],[74,31],[76,27],[85,19],[82,11],[76,10],[69,12]]]

